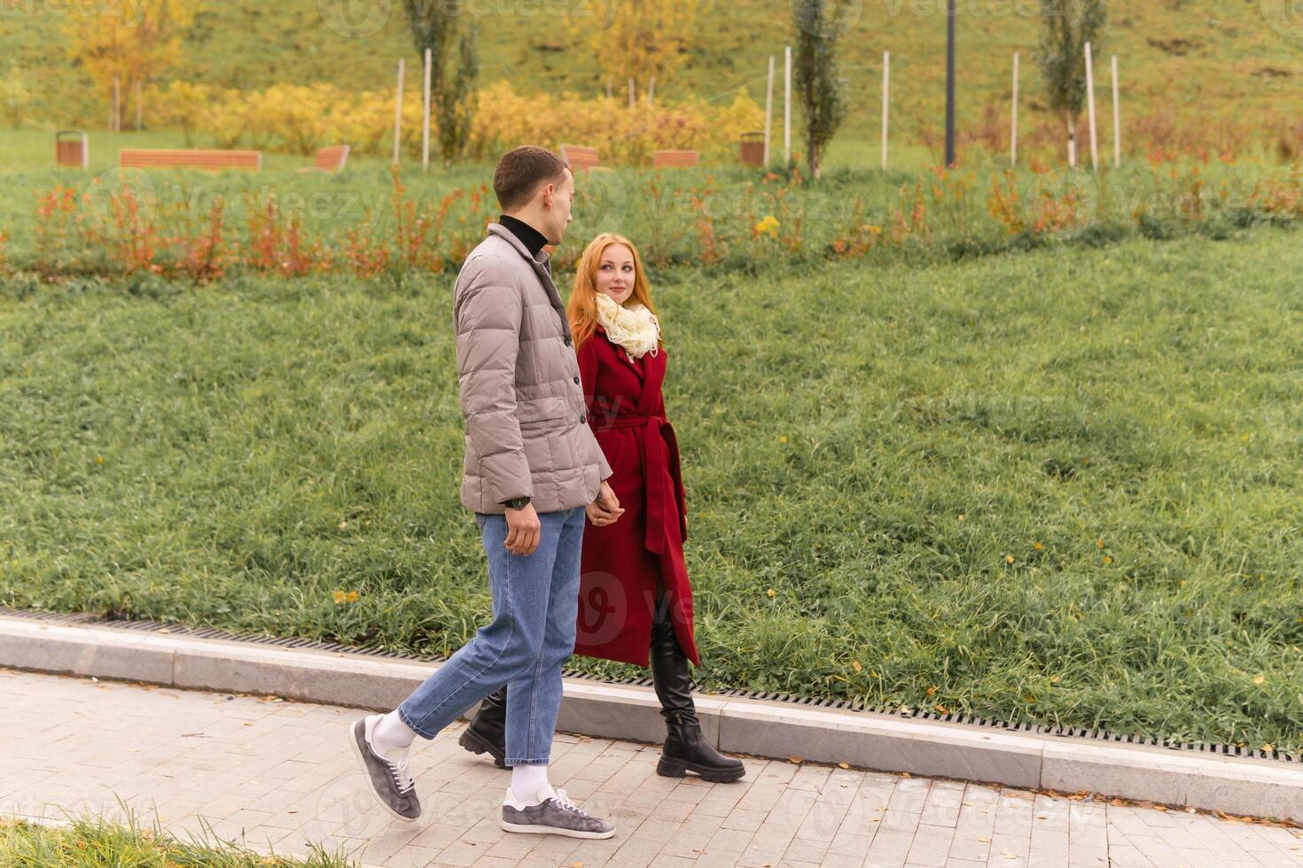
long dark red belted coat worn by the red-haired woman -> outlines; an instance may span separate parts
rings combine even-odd
[[[665,349],[629,362],[601,327],[579,347],[589,423],[624,514],[606,527],[585,524],[575,652],[637,666],[648,665],[658,583],[679,644],[692,662],[701,662],[683,562],[688,518],[679,442],[661,394],[665,368]]]

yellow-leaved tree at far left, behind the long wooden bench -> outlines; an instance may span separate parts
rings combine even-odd
[[[136,95],[141,126],[143,86],[181,59],[181,38],[194,21],[194,0],[137,0],[99,4],[64,25],[68,55],[81,64],[113,105],[115,82],[122,102]],[[121,126],[121,118],[113,118]]]

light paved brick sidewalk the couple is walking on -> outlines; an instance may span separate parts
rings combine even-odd
[[[1303,867],[1303,830],[1019,790],[751,760],[736,783],[655,774],[659,748],[558,735],[551,778],[609,841],[508,834],[508,773],[461,724],[417,742],[425,815],[390,819],[348,750],[362,712],[0,669],[0,813],[158,816],[258,850],[343,847],[366,865]],[[794,746],[799,750],[799,746]],[[202,820],[201,820],[202,819]]]

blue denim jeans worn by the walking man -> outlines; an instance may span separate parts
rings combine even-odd
[[[476,513],[489,554],[493,622],[399,705],[403,722],[434,738],[507,685],[507,765],[547,765],[562,704],[562,665],[575,651],[584,508],[539,513],[533,554],[507,550],[507,518]]]

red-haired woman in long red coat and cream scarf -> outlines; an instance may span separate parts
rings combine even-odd
[[[589,243],[568,314],[589,423],[624,508],[619,518],[599,514],[585,527],[575,651],[650,662],[667,730],[659,774],[736,781],[745,766],[702,738],[692,703],[688,660],[701,660],[683,560],[688,526],[679,446],[661,394],[666,351],[642,262],[627,238],[606,233]],[[463,747],[487,751],[502,765],[504,720],[506,688],[481,704]]]

